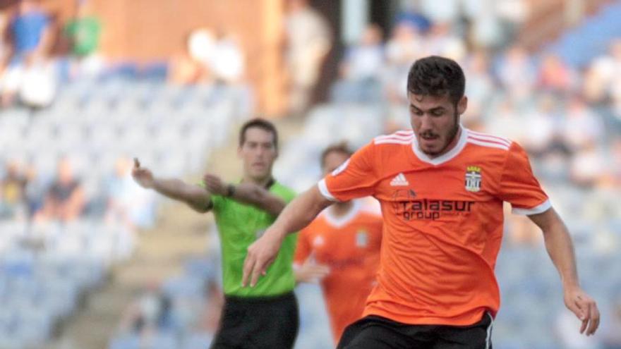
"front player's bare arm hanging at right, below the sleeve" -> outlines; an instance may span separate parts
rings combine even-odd
[[[576,255],[567,226],[553,208],[529,216],[541,231],[545,248],[559,271],[565,306],[582,321],[580,333],[591,336],[599,326],[600,314],[593,298],[582,290],[578,281]]]

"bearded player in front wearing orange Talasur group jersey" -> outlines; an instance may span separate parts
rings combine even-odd
[[[459,123],[465,80],[450,59],[414,62],[407,82],[412,130],[376,137],[285,207],[248,247],[242,282],[256,283],[283,238],[332,202],[373,195],[384,219],[378,285],[339,348],[491,348],[502,202],[509,202],[543,231],[565,305],[581,320],[581,333],[595,333],[600,314],[579,284],[572,239],[526,152]]]

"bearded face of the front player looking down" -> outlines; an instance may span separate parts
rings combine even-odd
[[[459,116],[466,111],[467,99],[455,106],[449,96],[408,93],[410,122],[418,147],[430,157],[447,152],[459,130]]]

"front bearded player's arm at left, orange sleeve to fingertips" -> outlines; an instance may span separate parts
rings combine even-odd
[[[315,219],[322,209],[335,201],[347,201],[373,194],[376,176],[374,145],[366,145],[342,164],[339,169],[320,181],[284,208],[278,219],[263,236],[248,247],[243,263],[242,285],[254,286],[260,275],[274,262],[287,234],[299,231]]]

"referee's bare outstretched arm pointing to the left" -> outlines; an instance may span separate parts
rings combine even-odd
[[[143,188],[153,189],[173,200],[185,202],[196,212],[204,213],[211,208],[210,192],[198,185],[189,185],[176,178],[157,178],[149,169],[140,166],[138,159],[134,159],[131,175]]]

